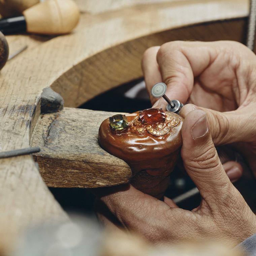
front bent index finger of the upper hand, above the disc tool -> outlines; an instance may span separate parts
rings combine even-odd
[[[209,66],[216,55],[214,47],[210,46],[205,42],[174,41],[160,47],[157,62],[170,99],[186,103],[193,89],[194,77]]]

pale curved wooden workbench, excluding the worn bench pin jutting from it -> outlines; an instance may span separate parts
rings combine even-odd
[[[86,2],[79,1],[81,9]],[[0,151],[29,147],[45,87],[59,92],[65,106],[76,107],[141,76],[141,55],[149,46],[176,39],[243,41],[249,1],[111,6],[95,14],[85,11],[72,33],[35,43],[7,62],[0,72]],[[187,27],[210,21],[216,22]],[[28,224],[66,218],[31,156],[0,160],[0,184],[0,226],[8,224],[1,230],[5,237],[14,238]]]

